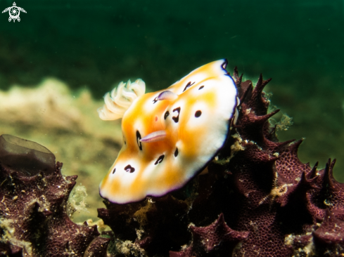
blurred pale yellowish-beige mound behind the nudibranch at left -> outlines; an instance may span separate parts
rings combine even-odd
[[[96,220],[96,208],[103,204],[95,181],[106,176],[122,142],[120,124],[99,119],[96,109],[102,104],[87,88],[70,91],[52,78],[33,88],[0,88],[0,134],[41,143],[63,160],[64,175],[78,175],[77,183],[87,187],[89,213],[75,213],[78,222]]]

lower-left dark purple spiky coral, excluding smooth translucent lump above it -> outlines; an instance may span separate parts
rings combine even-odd
[[[96,225],[68,217],[77,176],[64,177],[61,167],[57,162],[48,176],[23,176],[0,163],[0,256],[106,256],[109,239],[98,237]]]

